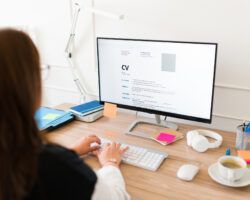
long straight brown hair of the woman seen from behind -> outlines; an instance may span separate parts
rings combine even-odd
[[[35,183],[40,99],[37,48],[21,31],[0,30],[0,199],[23,199]]]

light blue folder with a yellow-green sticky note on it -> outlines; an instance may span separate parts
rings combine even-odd
[[[35,119],[40,130],[53,129],[74,119],[71,112],[53,108],[40,107],[35,114]]]

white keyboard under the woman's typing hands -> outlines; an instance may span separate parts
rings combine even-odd
[[[112,141],[101,138],[102,145]],[[162,151],[148,149],[136,145],[121,143],[121,148],[128,146],[129,149],[122,156],[124,163],[156,171],[168,154]]]

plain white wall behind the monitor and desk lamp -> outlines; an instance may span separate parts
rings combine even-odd
[[[249,0],[82,0],[81,5],[125,14],[118,21],[80,13],[76,66],[90,93],[98,93],[95,36],[217,42],[218,61],[211,127],[234,130],[250,118]],[[43,63],[44,104],[79,101],[64,48],[70,30],[70,0],[0,0],[0,26],[29,26]],[[91,98],[94,98],[91,96]],[[191,123],[180,120],[181,122]],[[192,124],[195,124],[192,122]],[[202,124],[203,125],[203,124]]]

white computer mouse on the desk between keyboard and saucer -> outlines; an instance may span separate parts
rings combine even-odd
[[[199,167],[196,165],[185,164],[178,169],[177,177],[184,181],[192,181],[198,171]]]

